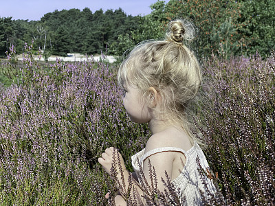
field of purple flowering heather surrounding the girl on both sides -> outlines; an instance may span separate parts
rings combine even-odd
[[[126,116],[117,66],[102,61],[40,65],[14,47],[0,86],[0,205],[107,205],[113,182],[97,159],[131,155],[150,135]],[[275,57],[203,62],[194,122],[221,191],[206,205],[275,205]],[[194,130],[195,131],[195,130]],[[221,195],[222,194],[222,195]]]

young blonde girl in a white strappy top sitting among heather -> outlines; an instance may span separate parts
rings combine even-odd
[[[124,88],[122,100],[126,112],[133,122],[148,122],[152,133],[144,150],[132,157],[135,173],[140,172],[137,162],[140,161],[146,181],[151,185],[150,160],[155,168],[157,189],[164,192],[162,177],[166,179],[167,172],[180,195],[186,198],[186,205],[201,205],[200,191],[206,191],[206,185],[210,192],[215,191],[212,181],[199,174],[198,165],[206,170],[208,163],[190,132],[186,113],[201,84],[199,63],[184,45],[184,41],[192,39],[194,31],[191,23],[171,21],[164,41],[137,45],[118,71],[118,82]],[[98,159],[109,174],[114,159],[118,158],[113,157],[114,150],[108,148]],[[127,183],[129,172],[121,155],[119,158],[122,170],[118,169],[118,179],[123,177]],[[139,187],[135,190],[142,196]],[[126,205],[126,202],[118,195],[115,204]]]

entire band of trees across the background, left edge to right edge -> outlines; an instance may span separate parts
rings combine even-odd
[[[275,1],[272,0],[170,0],[151,5],[151,14],[126,15],[122,9],[89,8],[54,11],[40,21],[0,19],[0,55],[10,45],[23,50],[34,40],[34,49],[65,56],[69,52],[122,55],[146,39],[163,38],[171,19],[187,18],[197,26],[198,36],[190,45],[199,57],[218,54],[262,56],[275,47]]]

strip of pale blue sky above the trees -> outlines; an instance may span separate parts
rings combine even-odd
[[[12,16],[12,19],[40,20],[48,12],[54,10],[69,10],[89,8],[93,13],[96,10],[122,10],[132,16],[150,14],[149,6],[157,0],[0,0],[0,17]],[[166,1],[167,2],[167,1]]]

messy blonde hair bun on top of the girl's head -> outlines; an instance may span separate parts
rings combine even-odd
[[[182,44],[184,41],[192,41],[195,38],[195,33],[195,26],[192,23],[177,19],[168,23],[166,41]]]

